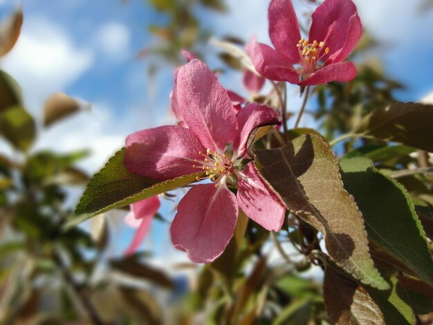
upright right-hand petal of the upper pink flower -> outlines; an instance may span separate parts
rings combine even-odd
[[[354,40],[347,39],[347,37],[352,34],[350,28],[358,28],[350,26],[350,19],[354,15],[357,15],[357,11],[351,0],[326,0],[315,10],[309,40],[310,42],[324,41],[324,48],[329,47],[329,55],[324,55],[324,60],[340,51],[345,46],[344,44],[349,43],[348,48],[353,44]],[[357,32],[354,32],[351,37],[355,37],[356,34]]]

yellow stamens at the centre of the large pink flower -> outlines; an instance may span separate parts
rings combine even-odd
[[[199,151],[199,155],[203,156],[203,160],[194,160],[192,165],[194,168],[200,168],[205,171],[204,177],[197,177],[197,180],[210,179],[218,187],[220,183],[225,183],[226,180],[231,180],[234,171],[232,160],[226,154],[219,154],[217,151],[206,150],[206,153]]]

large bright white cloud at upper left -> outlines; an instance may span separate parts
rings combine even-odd
[[[77,48],[64,31],[30,17],[3,68],[21,85],[28,109],[39,113],[50,93],[64,91],[92,62],[93,54]]]

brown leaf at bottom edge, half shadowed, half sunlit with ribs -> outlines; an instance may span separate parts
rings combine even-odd
[[[324,277],[324,301],[333,324],[383,324],[385,317],[376,301],[356,282],[327,267]]]

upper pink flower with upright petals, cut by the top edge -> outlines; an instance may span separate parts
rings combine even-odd
[[[275,50],[256,44],[253,62],[261,75],[300,86],[346,82],[356,76],[355,66],[343,62],[362,34],[351,0],[325,0],[313,13],[308,40],[301,38],[290,0],[272,0],[268,17]]]

